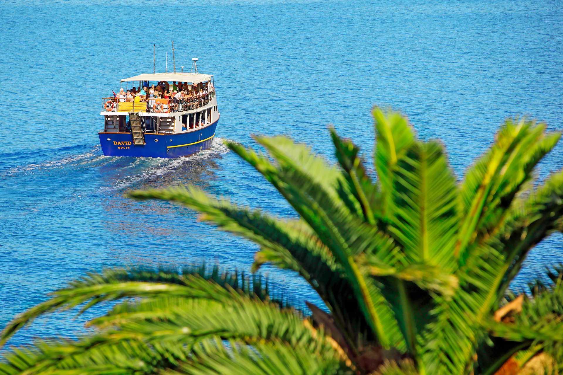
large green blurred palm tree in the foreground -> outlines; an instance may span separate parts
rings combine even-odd
[[[254,274],[205,265],[88,274],[8,324],[1,343],[41,314],[119,300],[88,323],[91,335],[13,349],[0,373],[558,373],[563,268],[527,295],[509,286],[530,249],[563,228],[563,172],[533,184],[560,134],[507,120],[457,183],[440,143],[417,140],[400,114],[373,115],[377,181],[334,129],[338,165],[285,137],[255,138],[269,156],[227,143],[300,219],[195,187],[130,192],[180,202],[256,242]],[[256,273],[265,263],[299,274],[324,306],[292,308]]]

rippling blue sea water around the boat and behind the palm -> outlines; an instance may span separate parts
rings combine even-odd
[[[191,183],[280,216],[292,209],[222,145],[288,134],[333,160],[326,130],[368,161],[370,109],[407,114],[440,138],[458,178],[502,121],[528,115],[563,130],[563,2],[32,1],[0,2],[0,327],[88,270],[208,259],[248,269],[257,247],[167,202],[127,189]],[[191,66],[215,74],[213,147],[176,160],[102,156],[101,97],[119,79]],[[563,143],[539,178],[563,167]],[[540,243],[516,284],[563,258]],[[315,301],[291,273],[265,269],[296,302]],[[72,336],[89,316],[41,318],[10,344]]]

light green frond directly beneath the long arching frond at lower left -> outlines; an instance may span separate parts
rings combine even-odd
[[[280,310],[272,302],[235,291],[228,303],[202,299],[180,304],[164,299],[142,301],[111,311],[105,319],[92,323],[110,327],[102,331],[102,336],[112,341],[182,342],[191,346],[220,337],[252,345],[278,340],[292,346],[332,348],[324,335],[311,331],[293,309]]]

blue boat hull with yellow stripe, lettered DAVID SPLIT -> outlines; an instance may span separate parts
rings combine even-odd
[[[100,144],[106,156],[145,156],[173,158],[209,150],[217,123],[194,132],[179,134],[145,134],[145,145],[135,146],[131,133],[101,132]]]

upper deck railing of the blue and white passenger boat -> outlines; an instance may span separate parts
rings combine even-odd
[[[133,99],[108,97],[102,98],[102,110],[106,112],[184,112],[207,105],[214,96],[215,90],[210,93],[200,93],[180,99],[162,99],[146,96]]]

